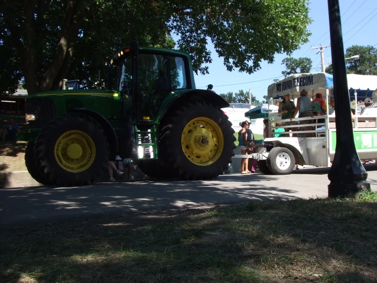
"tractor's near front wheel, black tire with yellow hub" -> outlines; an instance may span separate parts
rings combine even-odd
[[[40,173],[58,186],[95,182],[107,169],[109,152],[107,137],[98,124],[77,115],[63,115],[47,123],[34,146]]]

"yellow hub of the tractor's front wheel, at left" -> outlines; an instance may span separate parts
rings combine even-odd
[[[93,140],[77,130],[62,134],[56,141],[54,152],[59,166],[72,173],[87,170],[95,158]]]

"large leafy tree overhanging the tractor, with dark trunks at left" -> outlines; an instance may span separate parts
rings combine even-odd
[[[308,0],[0,0],[0,93],[21,78],[29,94],[64,78],[104,87],[105,62],[130,40],[172,48],[172,33],[196,73],[208,73],[211,41],[228,70],[251,74],[306,43],[310,22]]]

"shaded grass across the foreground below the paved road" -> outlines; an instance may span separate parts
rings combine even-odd
[[[7,225],[1,282],[375,282],[377,194]]]

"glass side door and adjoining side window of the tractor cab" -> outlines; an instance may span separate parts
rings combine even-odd
[[[152,123],[166,96],[177,88],[188,87],[186,67],[183,58],[166,54],[139,52],[137,61],[137,120]]]

